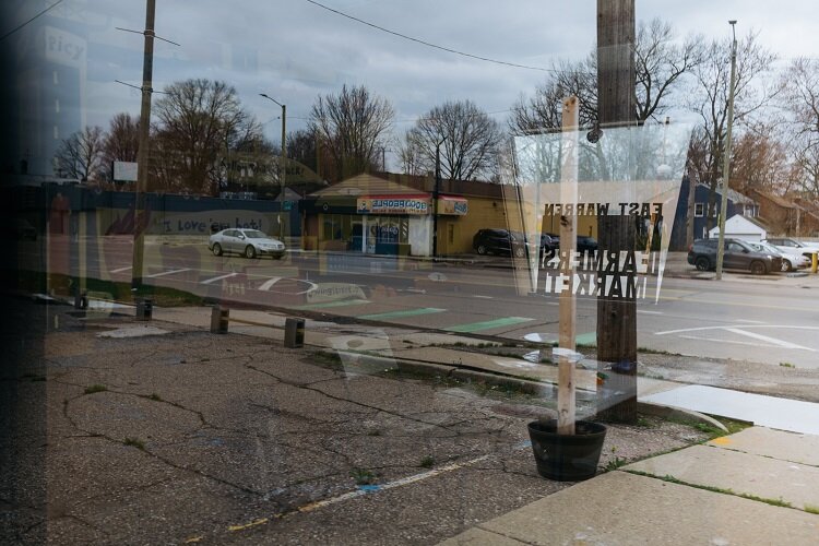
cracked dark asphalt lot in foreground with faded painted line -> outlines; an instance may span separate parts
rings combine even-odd
[[[4,377],[29,420],[0,468],[11,544],[429,544],[568,487],[536,473],[530,399],[259,335],[40,312],[41,358]],[[644,425],[610,427],[601,464],[705,438]]]

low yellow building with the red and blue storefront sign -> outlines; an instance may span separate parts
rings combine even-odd
[[[508,215],[514,187],[432,177],[363,174],[307,195],[306,250],[438,256],[471,253],[478,229],[518,229]],[[510,221],[511,219],[511,221]],[[434,240],[437,225],[438,240]]]

